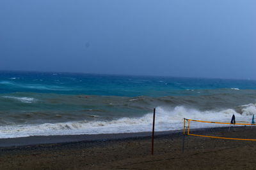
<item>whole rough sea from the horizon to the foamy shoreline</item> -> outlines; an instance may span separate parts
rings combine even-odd
[[[149,132],[183,119],[252,122],[256,81],[0,71],[0,138]]]

